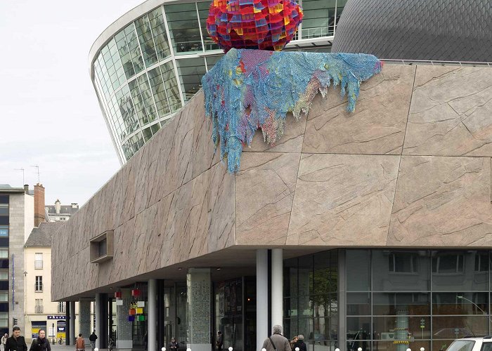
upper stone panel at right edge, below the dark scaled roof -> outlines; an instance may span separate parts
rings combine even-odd
[[[403,154],[492,156],[492,68],[417,67]]]

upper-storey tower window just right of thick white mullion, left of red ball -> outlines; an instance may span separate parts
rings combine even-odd
[[[167,25],[176,55],[202,51],[202,39],[195,3],[165,5]]]

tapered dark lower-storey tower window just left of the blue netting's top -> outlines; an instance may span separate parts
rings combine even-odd
[[[183,98],[188,101],[202,87],[202,77],[206,73],[205,60],[203,58],[187,58],[176,60],[176,63]]]

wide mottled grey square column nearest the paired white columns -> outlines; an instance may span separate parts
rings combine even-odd
[[[210,268],[190,268],[186,275],[188,305],[188,344],[193,351],[210,351]]]

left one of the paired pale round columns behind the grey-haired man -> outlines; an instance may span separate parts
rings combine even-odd
[[[268,337],[268,250],[257,250],[257,348]]]

